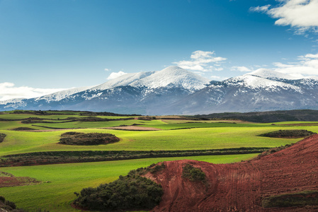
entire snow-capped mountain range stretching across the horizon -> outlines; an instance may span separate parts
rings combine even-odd
[[[127,73],[99,86],[0,102],[0,110],[89,110],[123,114],[210,114],[318,110],[318,78],[259,70],[210,81],[178,66]]]

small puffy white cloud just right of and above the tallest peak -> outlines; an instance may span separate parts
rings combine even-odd
[[[215,57],[214,52],[203,52],[198,50],[192,52],[191,60],[177,61],[173,64],[176,64],[183,69],[206,72],[213,71],[214,66],[212,66],[212,64],[218,64],[225,60],[226,58],[224,57]]]

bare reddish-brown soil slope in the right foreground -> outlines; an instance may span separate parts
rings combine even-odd
[[[195,160],[164,163],[165,170],[146,175],[164,189],[162,201],[153,211],[318,211],[315,206],[261,206],[266,196],[318,190],[318,134],[277,153],[242,163],[216,165]],[[186,163],[200,167],[208,184],[182,178]]]

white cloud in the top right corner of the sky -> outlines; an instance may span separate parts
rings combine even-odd
[[[272,18],[278,18],[276,25],[290,25],[297,33],[305,33],[306,30],[318,32],[318,0],[280,0],[280,2],[271,9],[261,6],[252,7],[250,10],[266,12]]]

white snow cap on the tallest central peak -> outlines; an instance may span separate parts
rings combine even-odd
[[[169,66],[161,71],[156,71],[152,75],[142,78],[140,81],[131,83],[130,86],[148,88],[161,88],[169,85],[183,87],[188,90],[199,90],[204,88],[210,81],[186,69],[178,66]]]

